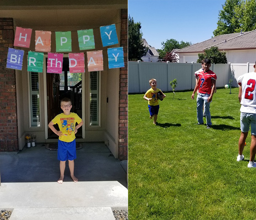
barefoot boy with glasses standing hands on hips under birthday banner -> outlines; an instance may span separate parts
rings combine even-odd
[[[75,134],[78,128],[80,128],[84,122],[77,114],[70,112],[72,104],[69,98],[64,98],[60,101],[60,108],[63,110],[63,113],[54,117],[48,126],[55,134],[59,136],[58,160],[60,160],[60,178],[58,183],[62,184],[66,160],[69,161],[69,170],[72,180],[74,182],[78,181],[78,178],[74,176],[74,159],[76,159]],[[75,126],[76,122],[78,125]],[[57,131],[53,126],[56,123],[59,126],[59,131]]]

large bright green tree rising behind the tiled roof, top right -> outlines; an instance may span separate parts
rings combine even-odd
[[[218,26],[213,31],[214,37],[256,29],[255,0],[226,0],[219,11]]]

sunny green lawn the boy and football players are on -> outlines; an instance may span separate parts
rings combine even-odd
[[[195,125],[192,91],[167,92],[158,125],[144,94],[128,95],[129,220],[256,219],[256,169],[237,162],[238,88],[217,89],[210,104],[212,128]],[[204,118],[204,122],[206,122]]]

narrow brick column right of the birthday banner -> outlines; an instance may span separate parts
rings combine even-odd
[[[124,67],[119,75],[119,160],[127,160],[128,147],[128,10],[121,10],[121,42],[124,51]]]

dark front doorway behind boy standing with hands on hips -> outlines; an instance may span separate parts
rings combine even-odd
[[[46,58],[47,64],[47,58]],[[82,73],[69,72],[69,59],[63,58],[62,74],[46,73],[47,83],[47,119],[48,123],[58,114],[62,113],[60,100],[70,98],[72,101],[71,112],[82,118]],[[54,127],[59,130],[58,125]],[[58,136],[48,128],[48,139]],[[82,138],[82,129],[78,129],[76,138]]]

